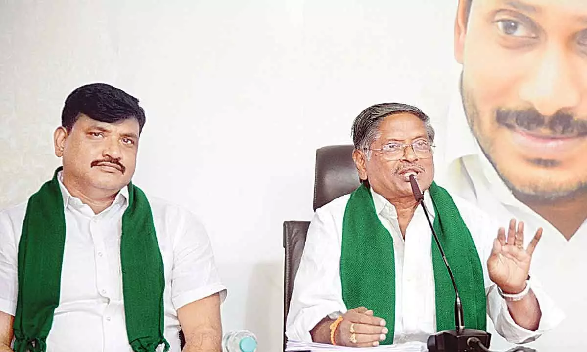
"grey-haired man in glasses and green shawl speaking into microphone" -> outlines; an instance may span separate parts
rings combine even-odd
[[[454,329],[454,290],[410,175],[424,191],[454,270],[466,327],[525,343],[561,320],[533,279],[524,224],[506,230],[433,182],[434,129],[417,107],[371,106],[356,117],[353,160],[362,185],[316,213],[294,281],[290,340],[367,347]]]

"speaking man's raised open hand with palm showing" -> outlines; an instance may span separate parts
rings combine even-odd
[[[487,259],[487,271],[491,281],[504,293],[519,293],[525,289],[532,253],[541,236],[542,228],[539,228],[524,249],[524,222],[519,222],[516,228],[516,220],[511,219],[507,238],[504,228],[498,230]]]

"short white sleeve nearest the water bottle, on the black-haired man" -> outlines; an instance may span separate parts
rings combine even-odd
[[[214,253],[204,225],[185,211],[183,229],[174,240],[171,272],[171,300],[175,309],[204,297],[220,293],[227,296],[216,268]]]

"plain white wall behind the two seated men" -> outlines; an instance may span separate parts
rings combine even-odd
[[[282,222],[311,218],[315,150],[350,143],[370,104],[443,116],[453,2],[4,0],[0,208],[59,165],[52,132],[73,89],[126,90],[147,112],[134,182],[204,222],[224,329],[279,350]]]

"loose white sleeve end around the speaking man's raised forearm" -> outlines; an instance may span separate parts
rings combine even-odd
[[[556,304],[548,295],[546,295],[538,282],[531,279],[530,288],[538,300],[541,312],[538,329],[536,329],[536,331],[525,329],[515,323],[510,314],[510,310],[508,310],[507,302],[499,296],[497,286],[494,287],[493,293],[497,294],[501,301],[499,317],[495,322],[495,330],[511,343],[521,344],[534,341],[546,331],[554,329],[554,327],[561,323],[565,317],[565,314],[556,307]]]

